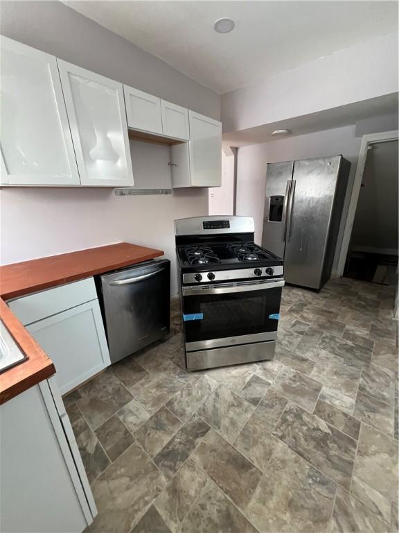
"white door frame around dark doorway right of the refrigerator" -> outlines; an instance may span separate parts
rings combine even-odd
[[[399,139],[399,130],[384,131],[382,133],[372,133],[370,135],[363,135],[362,137],[359,158],[357,159],[355,178],[353,179],[351,201],[349,203],[348,214],[346,216],[345,221],[344,237],[342,237],[341,251],[339,252],[339,260],[337,266],[338,278],[344,276],[346,256],[348,255],[349,242],[351,241],[353,222],[355,221],[357,201],[359,200],[360,187],[362,185],[364,168],[366,167],[366,158],[367,153],[369,151],[369,145],[375,144],[377,142],[395,141],[397,139]]]

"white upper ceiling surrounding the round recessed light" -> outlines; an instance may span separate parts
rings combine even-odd
[[[64,1],[223,94],[398,31],[396,1]],[[231,17],[236,28],[215,33]]]

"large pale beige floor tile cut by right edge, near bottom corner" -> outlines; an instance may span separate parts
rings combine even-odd
[[[362,424],[355,477],[391,501],[398,498],[398,442]]]

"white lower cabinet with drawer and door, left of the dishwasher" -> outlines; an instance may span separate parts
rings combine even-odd
[[[111,364],[93,278],[8,303],[55,366],[61,394]]]

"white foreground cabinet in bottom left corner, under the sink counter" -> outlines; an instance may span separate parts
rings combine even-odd
[[[51,379],[0,406],[3,532],[81,533],[97,514],[75,438],[64,432],[53,393],[58,403],[60,396]],[[69,418],[64,423],[70,428]]]

